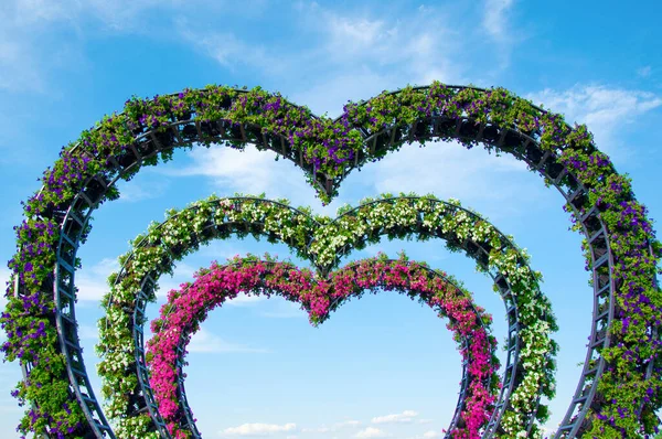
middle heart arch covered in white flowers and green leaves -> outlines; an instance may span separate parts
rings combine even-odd
[[[553,356],[557,346],[549,332],[556,330],[556,322],[540,291],[540,274],[527,265],[527,255],[478,214],[458,202],[442,202],[431,195],[385,194],[340,212],[331,220],[312,216],[306,207],[292,208],[287,200],[212,196],[181,212],[168,212],[163,223],[152,223],[147,234],[134,239],[131,250],[120,257],[120,272],[110,276],[113,287],[104,299],[106,317],[99,321],[102,392],[110,398],[106,413],[117,421],[118,437],[150,437],[157,429],[168,435],[149,388],[145,307],[156,300],[154,285],[161,274],[172,272],[175,260],[232,233],[285,242],[310,260],[322,277],[338,267],[339,256],[362,248],[366,242],[378,243],[382,235],[415,236],[419,240],[437,237],[451,250],[463,250],[476,259],[478,270],[493,278],[509,320],[503,388],[485,435],[538,432],[536,421],[547,418],[540,397],[554,396]],[[337,306],[332,298],[318,302],[318,310],[310,311],[312,323],[323,321]]]

